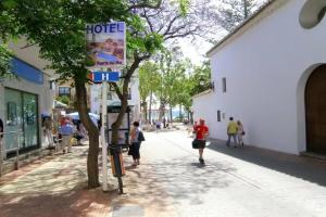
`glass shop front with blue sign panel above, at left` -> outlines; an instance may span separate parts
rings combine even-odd
[[[13,59],[16,78],[0,82],[0,118],[3,122],[4,158],[46,146],[41,113],[51,112],[50,76],[20,59]]]

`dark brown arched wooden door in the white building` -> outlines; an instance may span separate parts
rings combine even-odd
[[[326,154],[326,64],[311,74],[305,86],[306,151]]]

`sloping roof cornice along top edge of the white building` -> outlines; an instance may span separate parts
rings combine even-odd
[[[211,50],[206,52],[208,58],[211,58],[222,48],[236,40],[238,37],[243,35],[247,30],[256,26],[262,20],[274,13],[276,10],[281,8],[284,4],[290,2],[290,0],[269,0],[261,7],[255,13],[252,14],[248,20],[242,22],[237,28],[220,40]]]

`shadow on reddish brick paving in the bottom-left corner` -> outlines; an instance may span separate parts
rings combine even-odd
[[[83,217],[92,212],[109,213],[110,195],[102,193],[100,189],[79,189],[59,194],[1,195],[0,216]]]

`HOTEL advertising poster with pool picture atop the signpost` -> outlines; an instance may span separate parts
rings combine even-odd
[[[92,68],[118,67],[126,63],[126,25],[124,22],[86,25],[87,51]]]

